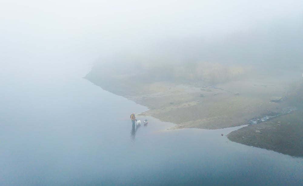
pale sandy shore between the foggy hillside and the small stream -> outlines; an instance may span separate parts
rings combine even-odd
[[[292,89],[284,78],[260,76],[205,86],[168,81],[142,83],[127,77],[97,80],[103,89],[149,108],[137,116],[152,116],[178,128],[219,129],[245,125],[254,118],[281,112],[287,99],[272,103],[272,96],[287,98]],[[279,80],[278,80],[279,79]],[[132,87],[132,88],[131,88]],[[132,112],[130,108],[130,112]]]

